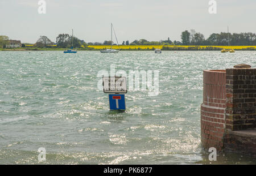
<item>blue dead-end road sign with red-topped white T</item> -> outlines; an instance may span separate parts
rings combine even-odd
[[[110,110],[125,110],[125,95],[109,94]]]

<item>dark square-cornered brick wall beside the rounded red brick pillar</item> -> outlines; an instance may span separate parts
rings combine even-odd
[[[256,68],[226,69],[226,129],[256,127]]]

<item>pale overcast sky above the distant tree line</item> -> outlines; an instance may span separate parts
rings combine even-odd
[[[86,42],[110,40],[113,23],[119,44],[144,38],[180,41],[182,31],[204,34],[256,32],[256,0],[216,0],[217,14],[209,14],[209,0],[0,0],[0,35],[35,43],[39,36],[53,42],[59,33],[72,33]]]

